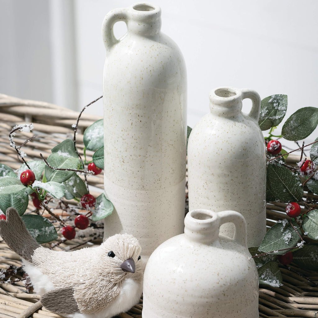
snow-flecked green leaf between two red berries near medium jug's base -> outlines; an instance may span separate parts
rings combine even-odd
[[[277,223],[266,232],[261,245],[259,245],[259,251],[266,253],[275,251],[274,254],[283,255],[286,253],[286,250],[278,250],[295,247],[300,240],[298,235],[298,233],[300,233],[300,227],[294,220],[291,222],[294,227],[290,224],[290,221],[286,219],[277,221]]]

